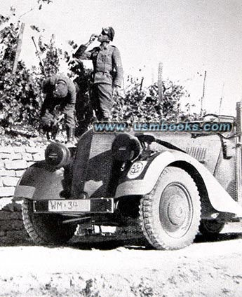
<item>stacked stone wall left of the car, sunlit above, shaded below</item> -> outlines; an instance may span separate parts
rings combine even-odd
[[[21,205],[12,202],[23,172],[43,160],[46,146],[0,146],[0,245],[22,244],[29,237],[22,223]]]

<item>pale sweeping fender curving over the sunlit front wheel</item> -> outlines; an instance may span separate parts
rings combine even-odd
[[[242,217],[242,207],[231,198],[229,193],[227,193],[217,179],[213,177],[213,174],[211,174],[204,165],[199,163],[198,160],[180,151],[163,151],[159,153],[151,163],[146,163],[142,174],[140,174],[141,179],[140,177],[129,179],[129,171],[126,179],[117,187],[115,197],[119,198],[127,195],[145,195],[150,193],[156,181],[159,179],[161,172],[163,172],[167,166],[173,165],[173,163],[177,161],[189,163],[189,165],[193,166],[196,171],[199,172],[206,185],[208,199],[214,209],[218,212],[229,212]],[[138,162],[142,163],[142,161],[136,161],[136,163]]]

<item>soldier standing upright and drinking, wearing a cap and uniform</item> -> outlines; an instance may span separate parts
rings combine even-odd
[[[100,46],[87,50],[98,38]],[[114,105],[113,92],[121,87],[123,68],[118,48],[109,43],[114,39],[112,27],[102,28],[98,36],[92,34],[86,44],[82,44],[74,57],[93,61],[93,83],[90,88],[90,102],[98,120],[109,120]]]

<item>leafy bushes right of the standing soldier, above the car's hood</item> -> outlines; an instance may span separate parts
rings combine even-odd
[[[113,120],[127,123],[156,122],[160,120],[179,121],[184,118],[194,119],[189,113],[180,108],[182,97],[187,95],[182,85],[173,81],[163,81],[163,97],[159,102],[158,86],[156,83],[148,88],[141,88],[140,83],[132,83],[126,94],[115,97]],[[197,118],[197,115],[196,115]]]

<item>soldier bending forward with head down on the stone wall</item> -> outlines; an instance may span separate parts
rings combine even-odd
[[[74,108],[76,103],[74,83],[63,74],[54,75],[43,82],[43,93],[46,93],[46,98],[41,107],[43,131],[55,130],[58,122],[64,118],[67,130],[67,144],[74,144]]]

